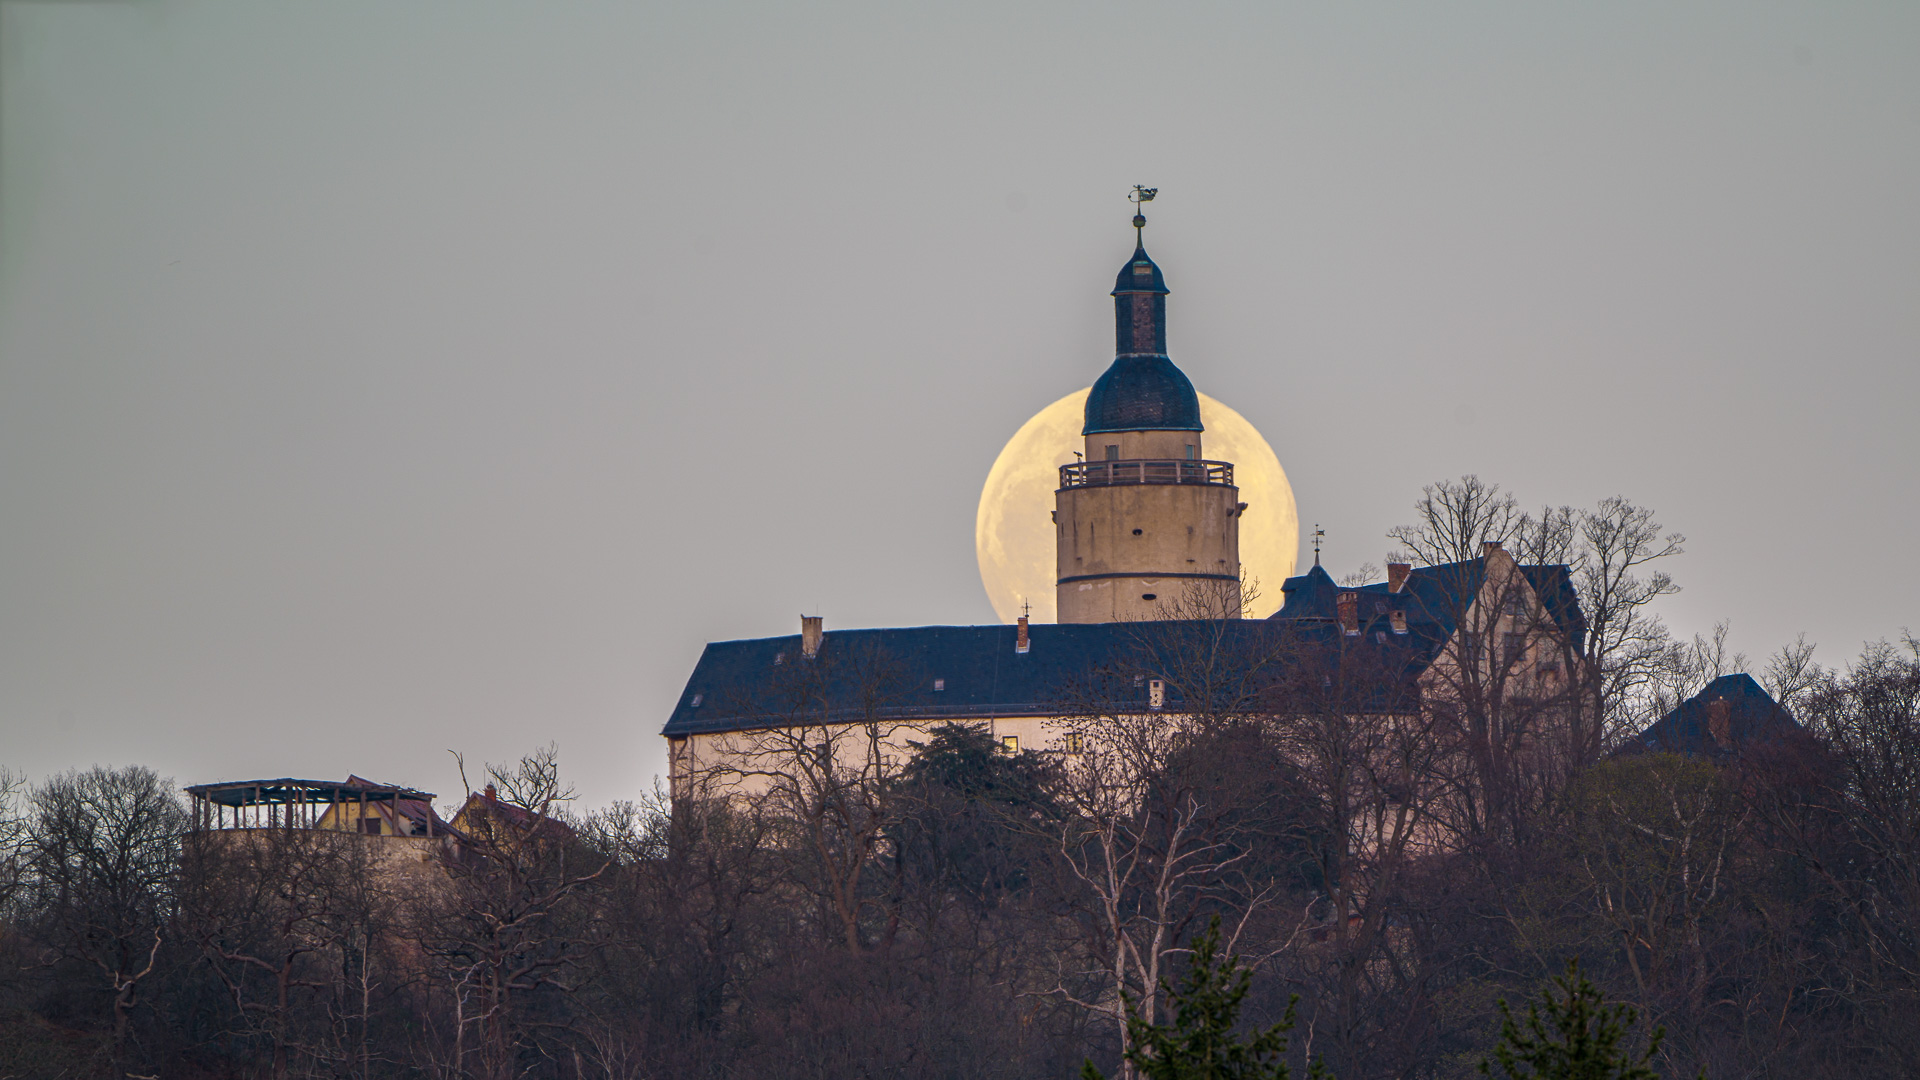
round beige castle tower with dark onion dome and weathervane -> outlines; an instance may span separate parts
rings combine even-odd
[[[1236,617],[1240,488],[1202,452],[1200,398],[1167,359],[1167,284],[1146,256],[1146,219],[1114,284],[1114,365],[1087,396],[1087,459],[1054,492],[1062,623],[1131,623],[1194,613]],[[1219,601],[1225,600],[1225,605]]]

